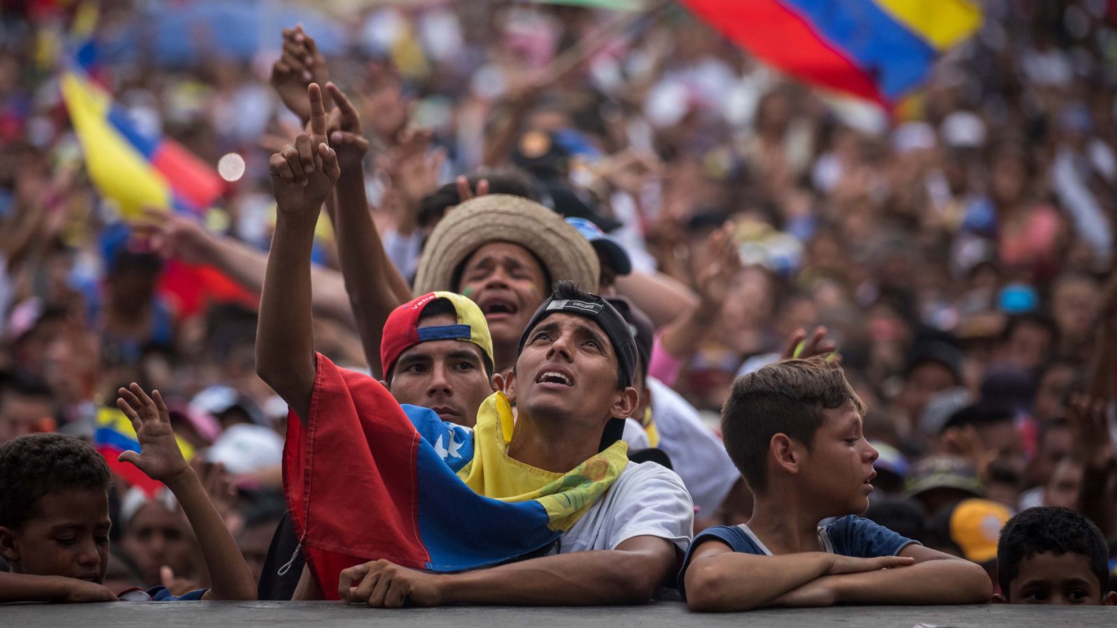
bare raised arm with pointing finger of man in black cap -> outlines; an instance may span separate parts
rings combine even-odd
[[[300,133],[269,162],[278,209],[256,333],[256,372],[304,421],[317,370],[311,248],[322,203],[340,175],[337,155],[326,144],[322,89],[312,83],[307,94],[311,134]]]

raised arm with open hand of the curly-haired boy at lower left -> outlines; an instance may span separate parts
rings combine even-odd
[[[135,382],[130,388],[117,390],[120,398],[116,405],[132,421],[142,450],[139,454],[121,454],[121,462],[132,463],[174,493],[198,536],[198,546],[209,573],[210,590],[202,599],[255,600],[252,572],[194,469],[182,457],[163,398],[157,390],[149,397]]]

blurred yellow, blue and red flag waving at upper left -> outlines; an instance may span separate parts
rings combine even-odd
[[[89,179],[125,218],[144,207],[198,213],[221,194],[225,183],[212,168],[180,144],[142,132],[80,74],[65,73],[61,88]]]

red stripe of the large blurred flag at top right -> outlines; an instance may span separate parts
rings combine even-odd
[[[779,0],[682,0],[756,57],[806,83],[884,103],[872,77]]]

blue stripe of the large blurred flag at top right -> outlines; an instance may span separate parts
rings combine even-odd
[[[903,96],[930,73],[935,49],[871,0],[780,0],[813,25],[879,86]]]

